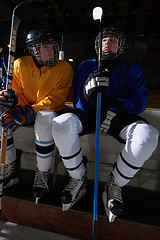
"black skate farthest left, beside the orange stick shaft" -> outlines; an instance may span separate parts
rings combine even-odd
[[[16,149],[17,158],[14,162],[6,164],[4,167],[4,181],[3,188],[11,187],[19,182],[20,176],[20,158],[22,151]]]

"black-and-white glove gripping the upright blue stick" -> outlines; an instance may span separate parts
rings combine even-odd
[[[91,73],[83,88],[83,97],[86,103],[91,103],[98,92],[107,94],[109,85],[109,71],[101,70]]]

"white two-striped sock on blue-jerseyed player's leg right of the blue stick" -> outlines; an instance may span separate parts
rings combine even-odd
[[[126,185],[151,157],[157,146],[158,136],[155,128],[142,121],[132,123],[121,131],[120,137],[126,140],[126,144],[113,170],[117,185]]]

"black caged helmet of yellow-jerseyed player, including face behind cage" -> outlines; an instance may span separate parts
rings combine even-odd
[[[58,62],[58,43],[55,41],[53,35],[46,30],[34,29],[30,31],[26,37],[26,45],[29,53],[35,57],[41,65],[51,67]]]

